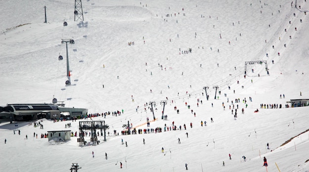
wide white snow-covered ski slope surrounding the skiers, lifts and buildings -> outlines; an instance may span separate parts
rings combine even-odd
[[[308,108],[260,108],[261,103],[285,107],[290,99],[309,98],[309,14],[305,15],[309,2],[298,0],[298,8],[295,3],[291,7],[291,0],[84,0],[84,21],[74,22],[72,0],[1,1],[2,106],[49,103],[54,96],[67,107],[88,108],[89,113],[124,110],[121,116],[93,118],[106,121],[110,136],[106,142],[100,136],[97,146],[82,148],[76,137],[59,145],[32,137],[33,132],[66,130],[68,122],[44,120],[44,129],[19,123],[21,135],[13,134],[14,124],[1,124],[1,169],[65,172],[78,163],[81,172],[173,172],[185,171],[187,163],[194,172],[264,172],[261,166],[266,156],[269,172],[278,171],[275,163],[284,172],[309,171],[305,163],[308,132],[280,147],[308,129]],[[44,6],[47,23],[43,23]],[[66,45],[61,39],[75,41],[68,44],[74,86],[65,86]],[[189,48],[192,53],[185,53]],[[59,54],[64,60],[58,60]],[[270,75],[264,63],[247,65],[245,79],[245,61],[259,60],[267,60]],[[208,101],[204,86],[209,87]],[[221,91],[216,99],[213,86]],[[280,94],[285,98],[280,99]],[[198,107],[197,99],[202,100]],[[168,120],[161,120],[161,100],[167,102],[164,115]],[[164,130],[165,124],[170,127],[174,121],[182,130],[121,136],[127,121],[137,129],[147,129],[146,119],[153,119],[153,114],[144,104],[150,101],[156,104],[158,119],[150,128]],[[237,120],[229,108],[232,101],[234,108],[239,106]],[[260,112],[254,113],[257,108]],[[201,121],[207,126],[201,127]],[[78,131],[78,123],[71,124],[70,129]],[[113,134],[114,129],[119,136]],[[128,147],[121,145],[121,138]],[[90,141],[89,136],[86,140]],[[272,152],[266,149],[267,143]],[[162,147],[166,154],[161,153]]]

